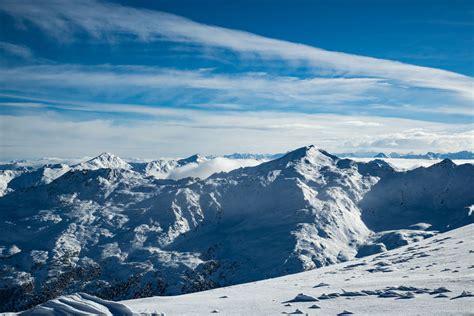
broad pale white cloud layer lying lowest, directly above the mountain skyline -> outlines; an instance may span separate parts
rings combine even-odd
[[[474,150],[473,124],[359,116],[351,120],[377,124],[354,128],[347,124],[347,116],[339,115],[190,110],[167,110],[163,115],[168,118],[127,124],[58,115],[3,115],[0,158],[81,157],[104,151],[141,158],[196,152],[277,153],[308,144],[331,152]]]

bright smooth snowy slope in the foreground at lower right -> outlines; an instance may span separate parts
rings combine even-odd
[[[383,254],[199,293],[122,302],[75,294],[22,315],[472,315],[474,225]]]

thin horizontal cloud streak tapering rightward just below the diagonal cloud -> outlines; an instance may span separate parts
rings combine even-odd
[[[106,89],[126,87],[193,88],[210,90],[241,90],[262,94],[285,94],[296,98],[319,92],[349,93],[365,91],[382,80],[376,78],[311,78],[272,76],[264,73],[214,74],[202,70],[174,70],[144,66],[109,65],[41,65],[0,68],[2,78],[10,78],[7,84],[32,83],[36,86],[85,87]],[[98,87],[99,86],[99,87]],[[383,87],[386,85],[383,84]],[[314,94],[314,93],[313,93]]]

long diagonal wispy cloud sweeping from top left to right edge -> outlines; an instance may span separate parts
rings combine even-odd
[[[87,33],[100,39],[168,40],[232,50],[263,59],[281,59],[312,67],[316,73],[365,76],[406,85],[453,91],[472,100],[473,78],[461,74],[328,51],[256,34],[205,25],[164,12],[114,3],[86,1],[1,2],[0,10],[33,23],[59,39]]]

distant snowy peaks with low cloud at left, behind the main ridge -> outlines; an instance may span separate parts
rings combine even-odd
[[[255,166],[263,159],[231,159],[192,155],[181,159],[158,159],[152,161],[123,160],[110,153],[84,159],[41,158],[35,160],[11,161],[0,165],[0,196],[19,188],[47,184],[69,169],[126,169],[156,179],[183,179],[187,177],[207,178],[213,173],[231,171],[241,167]],[[67,164],[66,164],[67,163]],[[18,178],[18,179],[16,179]],[[12,181],[14,180],[14,181]]]

